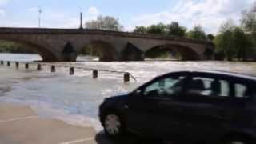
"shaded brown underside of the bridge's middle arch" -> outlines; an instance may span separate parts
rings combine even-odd
[[[78,54],[81,54],[83,50],[91,50],[91,53],[97,53],[99,61],[102,62],[118,61],[118,52],[109,42],[90,41],[78,51]]]

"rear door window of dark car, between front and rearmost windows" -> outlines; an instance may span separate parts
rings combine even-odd
[[[190,81],[187,93],[190,95],[227,97],[230,95],[230,85],[225,80],[194,77]]]

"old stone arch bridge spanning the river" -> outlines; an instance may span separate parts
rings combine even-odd
[[[170,48],[183,60],[205,60],[214,44],[188,38],[134,34],[106,30],[0,28],[0,40],[25,44],[38,51],[45,62],[74,62],[85,46],[91,46],[101,61],[139,61],[155,47]]]

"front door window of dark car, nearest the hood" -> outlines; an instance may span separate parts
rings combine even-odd
[[[185,77],[162,78],[147,86],[144,95],[147,97],[171,97],[178,95],[182,90],[182,83]]]

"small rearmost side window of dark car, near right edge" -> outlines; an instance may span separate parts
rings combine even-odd
[[[235,98],[248,98],[250,97],[250,90],[246,85],[235,83],[234,84],[234,97]]]

